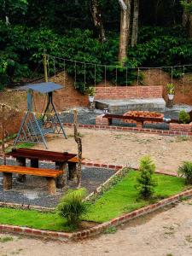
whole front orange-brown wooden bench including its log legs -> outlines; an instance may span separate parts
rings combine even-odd
[[[33,175],[46,177],[49,194],[54,195],[56,191],[55,178],[63,174],[63,171],[50,169],[39,169],[26,166],[0,166],[0,172],[3,172],[3,189],[12,189],[12,173],[20,175]]]

